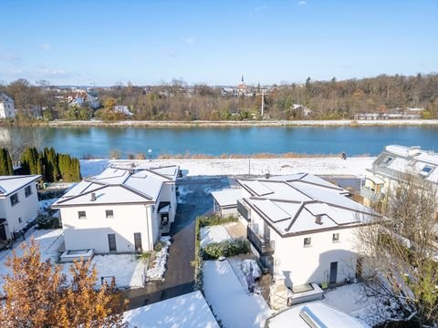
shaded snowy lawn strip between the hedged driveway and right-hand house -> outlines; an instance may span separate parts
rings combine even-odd
[[[271,314],[261,295],[247,294],[228,261],[203,262],[203,292],[225,328],[264,327]]]

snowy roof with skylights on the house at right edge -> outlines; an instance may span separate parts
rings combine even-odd
[[[388,171],[391,169],[391,171]],[[390,145],[374,161],[375,174],[399,178],[402,173],[418,174],[432,183],[438,183],[438,153],[423,150],[418,146]]]

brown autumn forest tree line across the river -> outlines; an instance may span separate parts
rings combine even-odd
[[[182,81],[154,87],[96,87],[101,108],[93,110],[87,103],[68,106],[66,93],[47,82],[36,85],[19,79],[0,86],[15,99],[19,113],[16,120],[40,117],[52,119],[120,120],[128,118],[114,110],[115,105],[129,108],[136,120],[244,120],[261,119],[260,87],[252,96],[224,95],[221,87],[196,85]],[[190,90],[190,92],[187,92]],[[300,104],[311,109],[308,116],[294,110]],[[305,84],[271,86],[264,97],[264,119],[341,119],[361,113],[387,113],[395,108],[424,108],[423,118],[438,118],[438,74],[386,76],[338,81],[314,81]]]

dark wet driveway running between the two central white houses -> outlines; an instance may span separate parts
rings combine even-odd
[[[180,191],[176,218],[170,235],[167,271],[163,282],[148,282],[146,287],[125,292],[130,309],[193,292],[194,220],[213,210],[211,191],[229,186],[226,177],[196,177],[178,179]]]

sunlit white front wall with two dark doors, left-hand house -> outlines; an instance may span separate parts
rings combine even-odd
[[[84,210],[87,219],[78,219]],[[107,219],[105,210],[113,210]],[[151,205],[93,205],[61,209],[62,226],[67,250],[94,249],[108,253],[108,234],[116,234],[117,252],[133,252],[134,233],[141,233],[143,251],[151,251],[154,237],[151,227]],[[151,242],[152,240],[152,242]]]

